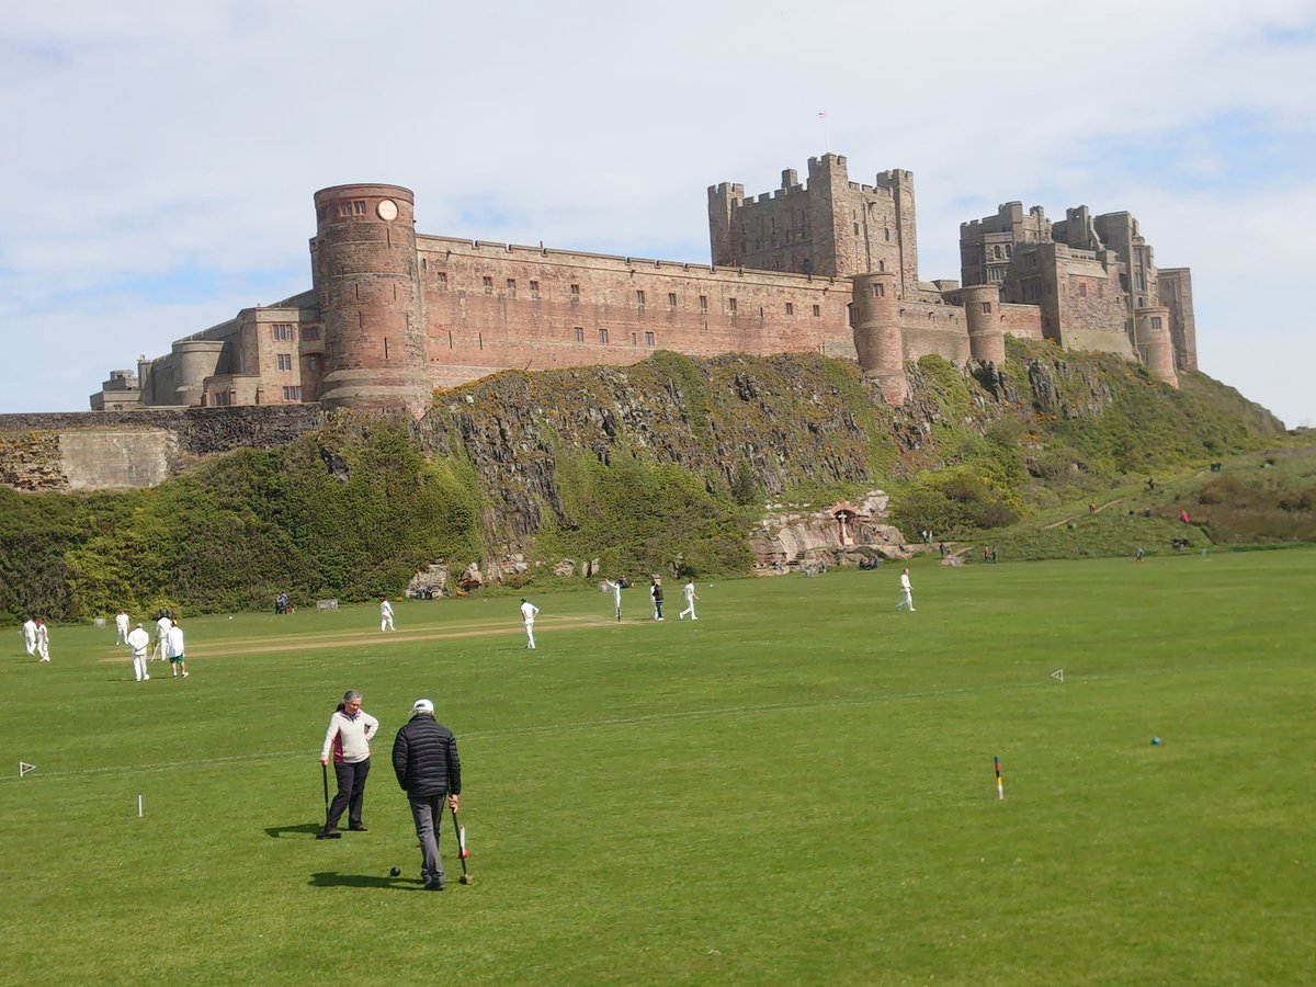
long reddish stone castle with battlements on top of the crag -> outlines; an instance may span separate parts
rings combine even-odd
[[[913,175],[850,182],[846,159],[745,196],[708,190],[712,263],[418,234],[407,188],[316,192],[312,288],[245,308],[116,370],[95,411],[299,404],[421,413],[436,388],[505,368],[819,351],[858,361],[892,403],[936,353],[1000,365],[1004,334],[1196,368],[1187,268],[1157,268],[1138,222],[1021,203],[959,228],[961,282],[919,280]]]

